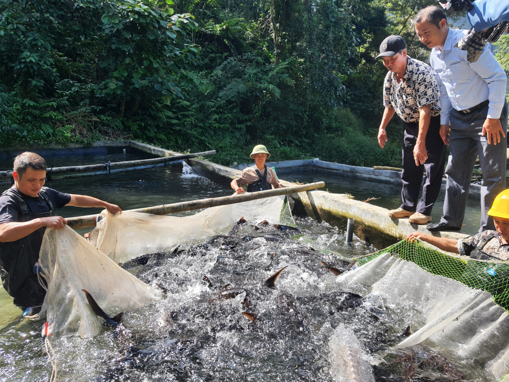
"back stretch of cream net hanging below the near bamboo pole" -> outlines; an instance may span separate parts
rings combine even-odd
[[[140,255],[169,251],[176,245],[200,243],[224,234],[244,217],[260,223],[293,225],[292,213],[285,196],[207,208],[190,216],[160,216],[139,212],[112,215],[101,213],[90,240],[116,263]]]

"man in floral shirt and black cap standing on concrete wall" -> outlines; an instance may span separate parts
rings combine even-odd
[[[387,142],[385,127],[397,113],[404,121],[403,189],[400,208],[389,211],[393,219],[409,217],[413,224],[431,222],[431,210],[437,200],[445,166],[445,144],[440,137],[440,89],[433,69],[407,56],[405,40],[389,36],[380,45],[385,77],[383,97],[385,111],[378,130],[380,147]],[[422,174],[426,181],[417,203]]]

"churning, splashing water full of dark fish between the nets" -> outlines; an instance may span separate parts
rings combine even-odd
[[[377,381],[403,382],[408,357],[414,381],[489,380],[469,361],[450,354],[446,361],[433,343],[424,349],[435,360],[441,357],[441,369],[427,363],[423,351],[412,358],[391,350],[418,312],[386,307],[377,295],[338,291],[335,276],[320,264],[345,269],[333,253],[351,258],[374,249],[358,239],[344,244],[344,233],[326,223],[296,223],[299,232],[272,226],[255,231],[248,222],[229,237],[123,264],[146,283],[159,284],[167,298],[128,312],[120,333],[51,339],[59,380],[331,381],[332,356],[347,356],[329,350],[330,336],[342,323],[376,364],[371,372]],[[263,285],[285,266],[277,290]],[[15,322],[0,330],[0,380],[48,379],[41,324]]]

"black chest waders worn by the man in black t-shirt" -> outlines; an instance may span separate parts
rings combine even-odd
[[[55,216],[56,211],[48,195],[41,190],[39,195],[44,199],[50,211],[30,213],[26,202],[13,189],[8,189],[2,195],[8,195],[19,203],[21,216],[18,222],[29,222],[39,217]],[[39,284],[34,269],[39,260],[42,238],[46,227],[39,228],[30,235],[16,241],[0,242],[0,276],[5,290],[14,297],[14,304],[21,308],[41,305],[46,291]]]

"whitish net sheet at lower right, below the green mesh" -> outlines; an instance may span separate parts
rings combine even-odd
[[[338,276],[335,283],[342,290],[378,294],[386,306],[412,317],[414,333],[398,347],[429,338],[484,365],[496,380],[509,373],[509,316],[490,293],[389,254]]]

